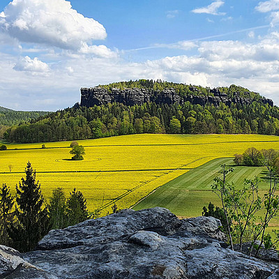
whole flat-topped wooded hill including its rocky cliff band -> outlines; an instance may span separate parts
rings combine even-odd
[[[279,135],[279,108],[236,85],[209,89],[149,80],[120,82],[82,89],[81,105],[10,129],[6,140],[54,142],[140,133]]]

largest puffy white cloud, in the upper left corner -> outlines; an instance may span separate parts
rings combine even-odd
[[[0,15],[0,29],[22,42],[72,50],[107,36],[102,24],[65,0],[13,0]]]

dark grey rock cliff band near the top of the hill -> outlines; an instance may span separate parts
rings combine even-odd
[[[173,105],[178,103],[183,105],[183,103],[190,102],[193,105],[206,105],[206,103],[213,104],[215,106],[220,105],[220,103],[225,103],[225,105],[231,105],[232,103],[239,103],[241,105],[250,105],[253,99],[246,97],[241,97],[239,94],[235,93],[233,98],[229,98],[227,94],[220,93],[218,89],[211,89],[213,96],[179,96],[174,89],[164,89],[163,91],[154,91],[151,89],[112,89],[112,91],[107,91],[102,87],[93,88],[82,88],[82,99],[81,105],[85,107],[93,107],[93,105],[105,105],[107,103],[123,103],[124,105],[142,105],[146,102],[155,102],[156,104],[165,103],[167,105]],[[269,104],[273,106],[273,101],[270,99],[262,98],[259,100],[263,105]]]

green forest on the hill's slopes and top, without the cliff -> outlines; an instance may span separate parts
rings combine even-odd
[[[109,90],[145,86],[152,88],[176,88],[181,92],[186,84],[140,80],[103,85]],[[189,87],[193,93],[193,86]],[[211,89],[195,86],[198,94],[210,94]],[[157,89],[156,89],[157,90]],[[133,133],[259,133],[279,135],[279,108],[261,100],[268,100],[259,93],[240,86],[219,87],[227,96],[240,95],[249,99],[246,103],[220,103],[216,106],[148,102],[142,105],[107,103],[93,107],[75,105],[66,110],[40,116],[36,121],[13,126],[6,134],[10,142],[52,142],[59,140],[82,140]],[[272,101],[271,101],[272,102]]]

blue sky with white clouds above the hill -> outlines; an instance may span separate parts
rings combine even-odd
[[[279,105],[279,0],[1,0],[0,105],[59,110],[80,87],[237,84]]]

